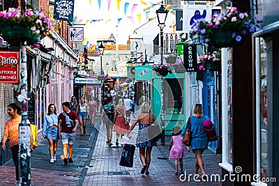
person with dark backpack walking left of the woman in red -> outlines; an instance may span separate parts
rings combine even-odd
[[[106,143],[112,146],[112,128],[114,126],[114,109],[115,106],[112,104],[112,98],[107,98],[107,104],[104,105],[103,111],[100,114],[100,121],[99,123],[102,123],[102,120],[105,122],[105,127],[107,129],[107,141]],[[105,119],[103,119],[105,118]]]

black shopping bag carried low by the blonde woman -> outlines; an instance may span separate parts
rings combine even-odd
[[[125,144],[122,150],[121,160],[119,165],[133,167],[135,146],[132,144]]]

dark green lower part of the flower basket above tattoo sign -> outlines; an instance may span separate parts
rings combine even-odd
[[[40,34],[31,31],[30,26],[21,26],[16,24],[6,25],[1,29],[2,37],[11,45],[20,45],[20,42],[27,41],[27,45],[33,45],[38,42]]]

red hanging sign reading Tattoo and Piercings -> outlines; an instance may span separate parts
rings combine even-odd
[[[0,83],[19,84],[20,52],[0,51]]]

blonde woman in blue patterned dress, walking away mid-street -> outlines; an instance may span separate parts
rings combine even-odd
[[[151,150],[153,146],[157,146],[157,142],[154,139],[149,139],[148,127],[151,124],[158,125],[156,117],[149,111],[148,102],[143,102],[140,105],[140,114],[135,118],[135,121],[130,126],[127,136],[130,137],[130,132],[135,125],[139,123],[139,131],[137,132],[136,146],[140,148],[140,160],[142,162],[142,170],[140,173],[149,174],[149,165],[151,162]]]

